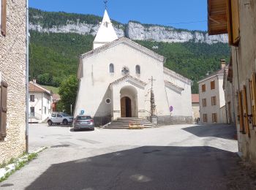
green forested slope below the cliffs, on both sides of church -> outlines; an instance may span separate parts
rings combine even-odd
[[[76,75],[79,55],[92,49],[94,37],[80,34],[53,34],[30,31],[30,77],[43,85],[59,86],[69,75]],[[208,71],[219,69],[221,58],[229,58],[227,44],[136,41],[167,58],[165,66],[193,80],[192,92],[197,93],[197,81]],[[154,47],[154,48],[153,48]]]

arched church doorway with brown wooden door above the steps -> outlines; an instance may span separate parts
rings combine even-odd
[[[120,91],[121,118],[138,118],[138,95],[133,86],[124,86]]]

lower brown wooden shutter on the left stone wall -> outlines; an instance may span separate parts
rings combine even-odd
[[[7,83],[1,82],[0,139],[7,136]]]

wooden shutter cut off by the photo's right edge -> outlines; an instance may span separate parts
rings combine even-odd
[[[250,80],[250,94],[252,102],[252,125],[256,126],[256,76],[255,73],[252,74]]]

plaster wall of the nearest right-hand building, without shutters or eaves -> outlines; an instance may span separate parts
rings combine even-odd
[[[238,47],[232,47],[234,99],[235,107],[238,107],[238,91],[246,86],[248,114],[250,115],[252,109],[248,80],[252,77],[252,73],[256,72],[256,1],[248,1],[248,4],[244,4],[244,1],[241,0],[238,2],[241,38]],[[236,109],[239,151],[243,154],[244,159],[256,164],[256,127],[249,123],[251,137],[241,133],[237,115]]]

